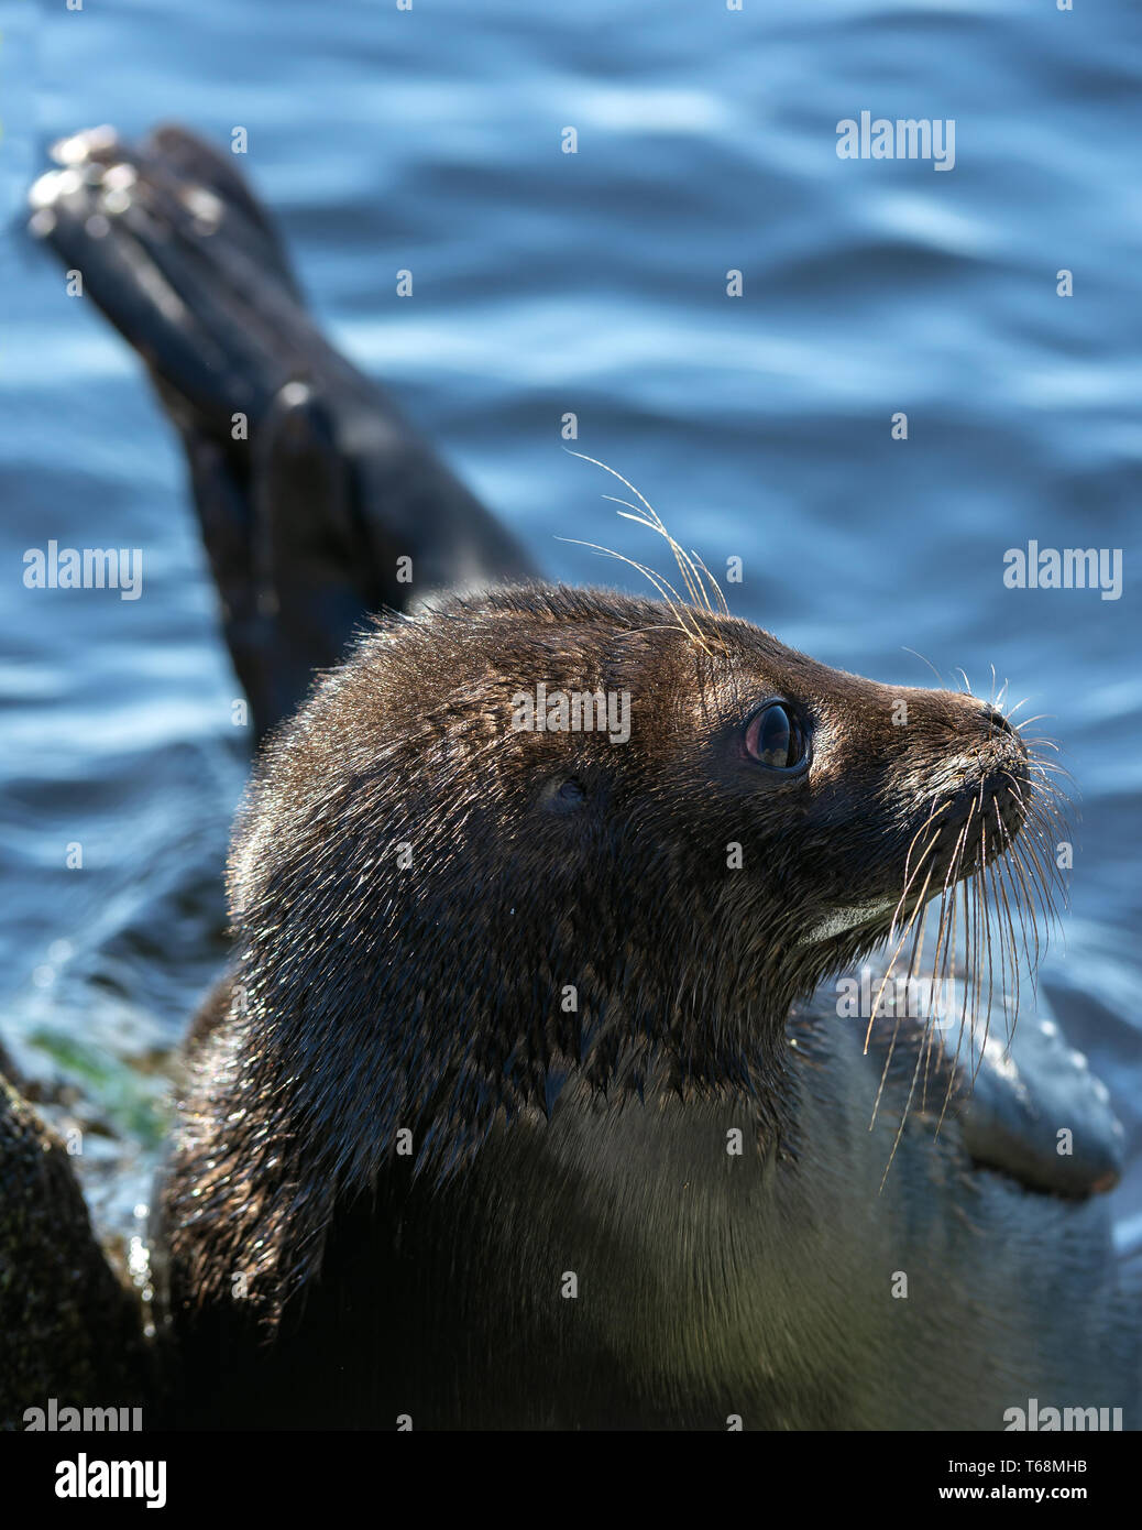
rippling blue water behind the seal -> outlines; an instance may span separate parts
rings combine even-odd
[[[0,26],[0,1034],[87,1128],[101,1227],[147,1198],[245,774],[171,433],[18,226],[47,144],[101,121],[246,127],[321,323],[549,572],[630,584],[560,536],[663,566],[561,450],[575,412],[715,571],[745,560],[738,614],[885,681],[931,678],[907,649],[985,692],[994,666],[1047,713],[1082,819],[1041,993],[1142,1152],[1137,6],[99,0]],[[838,159],[862,110],[954,118],[955,168]],[[49,537],[141,546],[144,597],[24,589]],[[1006,589],[1030,539],[1124,549],[1122,598]]]

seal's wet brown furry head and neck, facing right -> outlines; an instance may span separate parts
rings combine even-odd
[[[628,736],[576,728],[576,696],[627,698]],[[731,617],[523,586],[379,624],[240,819],[176,1259],[200,1293],[254,1248],[280,1311],[397,1132],[446,1178],[569,1079],[746,1091],[775,1140],[793,1002],[991,863],[1033,789],[992,707]]]

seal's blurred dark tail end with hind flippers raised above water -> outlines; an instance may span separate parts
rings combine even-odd
[[[110,129],[79,133],[58,155],[66,168],[32,190],[32,230],[83,272],[179,428],[258,736],[342,656],[358,615],[535,574],[318,332],[232,167],[177,127],[138,150]]]

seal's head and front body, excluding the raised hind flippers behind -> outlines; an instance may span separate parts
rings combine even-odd
[[[959,900],[1029,894],[1049,811],[992,705],[722,612],[526,584],[379,621],[235,834],[164,1192],[185,1421],[1133,1409],[1090,1080],[1049,1048],[1052,1100],[981,1024],[865,1054],[826,982],[934,897],[1011,947]]]

